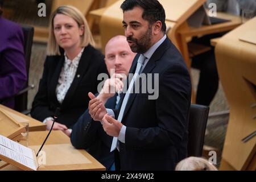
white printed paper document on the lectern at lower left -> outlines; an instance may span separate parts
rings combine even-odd
[[[36,170],[33,151],[31,148],[16,143],[0,135],[0,155],[13,159],[24,166]]]

